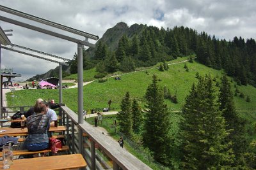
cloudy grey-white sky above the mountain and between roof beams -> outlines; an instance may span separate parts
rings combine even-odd
[[[214,34],[216,38],[227,40],[232,40],[234,36],[241,36],[244,39],[256,37],[255,0],[0,0],[0,4],[98,35],[100,38],[107,29],[114,27],[118,22],[125,22],[129,26],[135,23],[154,25],[164,29],[184,25],[198,32],[205,31],[209,35]],[[3,11],[0,11],[0,15],[74,36]],[[2,29],[13,29],[13,36],[8,37],[13,44],[67,59],[72,59],[77,52],[76,43],[3,21],[0,21],[0,25]],[[74,37],[84,39],[79,36]],[[95,43],[90,39],[89,42]],[[13,68],[15,73],[22,74],[22,78],[15,78],[14,81],[26,80],[58,66],[46,60],[4,49],[2,49],[1,62],[2,69]]]

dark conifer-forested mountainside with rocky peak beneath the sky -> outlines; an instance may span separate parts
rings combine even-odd
[[[84,52],[84,68],[97,67],[101,75],[115,71],[133,71],[136,67],[196,54],[196,60],[214,69],[225,69],[238,84],[256,86],[256,43],[254,39],[235,37],[216,39],[206,32],[188,27],[161,29],[120,22],[108,29],[96,48]],[[76,59],[76,55],[74,56]],[[76,60],[71,73],[77,72]]]

